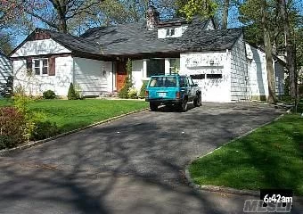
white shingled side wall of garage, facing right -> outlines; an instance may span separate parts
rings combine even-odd
[[[249,74],[243,37],[233,45],[231,50],[231,95],[233,102],[250,99]]]

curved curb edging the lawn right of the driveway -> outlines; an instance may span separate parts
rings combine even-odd
[[[266,122],[265,124],[261,125],[258,128],[263,128],[263,127],[271,124],[272,122],[277,121],[278,119],[283,118],[283,116],[284,116],[284,114],[281,114],[277,118],[273,119],[272,121]],[[215,149],[215,150],[213,150],[211,152],[208,152],[208,153],[206,153],[206,154],[204,154],[204,155],[202,155],[200,157],[197,157],[195,160],[201,159],[201,158],[203,158],[203,157],[211,154],[212,152],[217,151],[218,149],[220,149],[222,146],[225,146],[226,144],[231,144],[234,141],[236,141],[236,140],[238,140],[238,139],[240,139],[240,138],[242,138],[244,136],[250,135],[252,132],[258,130],[258,128],[253,128],[250,131],[248,131],[248,132],[246,132],[246,133],[244,133],[244,134],[242,134],[240,136],[237,136],[237,137],[233,138],[233,140],[228,141],[225,144],[222,144],[220,147],[218,147],[217,149]],[[197,185],[192,180],[191,174],[189,172],[189,167],[192,164],[192,162],[195,161],[195,160],[190,161],[189,164],[185,168],[185,177],[187,179],[188,185],[192,186],[193,189],[198,190],[198,191],[202,190],[202,191],[217,192],[217,193],[233,193],[233,194],[238,194],[238,195],[250,195],[250,196],[259,196],[260,195],[259,191],[253,191],[253,190],[240,190],[240,189],[234,189],[234,188],[231,188],[231,187],[218,186],[218,185]],[[296,198],[299,198],[299,199],[302,198],[303,199],[303,197],[296,197]]]

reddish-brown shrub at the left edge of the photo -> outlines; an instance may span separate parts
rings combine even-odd
[[[0,149],[12,148],[25,141],[25,118],[14,107],[0,109]]]

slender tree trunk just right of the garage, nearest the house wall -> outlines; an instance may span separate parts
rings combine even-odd
[[[274,79],[274,67],[273,67],[273,46],[270,39],[270,34],[267,28],[266,17],[266,0],[262,1],[261,5],[262,14],[262,26],[264,32],[264,45],[266,49],[266,71],[267,71],[267,84],[268,84],[268,103],[276,103],[275,96],[275,79]]]

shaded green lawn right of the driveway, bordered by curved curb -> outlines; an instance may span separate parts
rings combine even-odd
[[[193,161],[189,170],[200,185],[291,188],[303,195],[303,118],[285,115]]]

